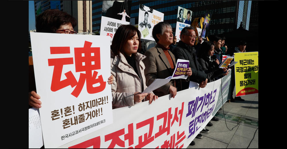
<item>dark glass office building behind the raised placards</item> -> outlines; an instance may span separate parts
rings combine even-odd
[[[221,34],[237,29],[240,23],[249,29],[251,1],[132,1],[131,18],[138,22],[139,4],[164,13],[164,21],[170,23],[175,32],[178,6],[189,9],[192,18],[204,17],[206,10],[212,14],[208,34]],[[100,29],[102,1],[92,1],[93,31]]]

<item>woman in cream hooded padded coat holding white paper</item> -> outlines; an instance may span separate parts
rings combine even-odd
[[[113,38],[111,45],[110,68],[115,77],[112,84],[113,109],[134,106],[143,100],[158,99],[153,92],[144,93],[146,79],[145,65],[142,62],[146,56],[138,53],[141,49],[141,33],[133,25],[121,25]]]

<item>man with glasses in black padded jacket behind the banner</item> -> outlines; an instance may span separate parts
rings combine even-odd
[[[193,27],[184,27],[180,33],[180,41],[172,51],[174,53],[176,60],[185,59],[189,60],[189,67],[191,67],[192,75],[187,78],[187,80],[179,79],[181,84],[181,90],[189,88],[189,81],[199,83],[200,88],[204,88],[208,82],[207,75],[204,73],[201,65],[196,58],[196,49],[193,47],[196,39],[196,34]],[[208,129],[203,129],[201,132],[208,133]],[[196,136],[197,138],[202,138],[203,136],[199,133]],[[193,142],[190,144],[192,145]],[[195,144],[195,143],[194,143]]]

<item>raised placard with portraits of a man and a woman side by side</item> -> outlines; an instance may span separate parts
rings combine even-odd
[[[177,36],[177,42],[180,41],[181,30],[186,26],[188,27],[190,26],[191,15],[192,15],[192,11],[185,9],[183,7],[178,7],[177,26],[175,28],[175,36]]]

